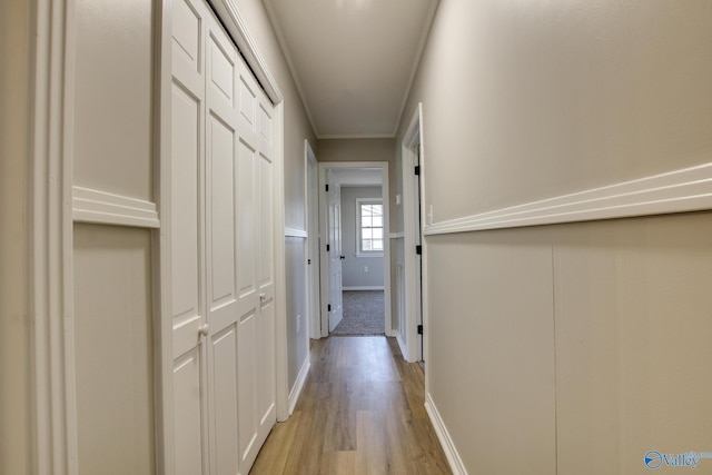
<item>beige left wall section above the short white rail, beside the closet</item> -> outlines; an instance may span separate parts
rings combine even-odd
[[[152,191],[152,2],[76,7],[73,180],[130,198]]]

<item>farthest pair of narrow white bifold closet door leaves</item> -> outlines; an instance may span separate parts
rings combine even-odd
[[[251,466],[276,420],[273,106],[244,65],[237,88],[239,454]]]

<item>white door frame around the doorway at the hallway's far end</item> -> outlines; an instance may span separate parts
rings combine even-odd
[[[390,320],[390,191],[388,188],[388,162],[387,161],[320,161],[319,162],[319,232],[320,236],[327,236],[327,207],[326,207],[326,170],[329,169],[348,169],[348,168],[373,168],[380,170],[383,204],[384,204],[384,249],[383,249],[383,285],[384,285],[384,319],[386,336],[394,336],[393,324]],[[328,329],[328,276],[329,263],[326,255],[326,243],[324,239],[319,243],[320,255],[320,321],[322,337],[329,336]]]

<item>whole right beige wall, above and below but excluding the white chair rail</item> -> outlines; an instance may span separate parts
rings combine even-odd
[[[711,24],[702,0],[442,1],[396,138],[422,101],[435,222],[708,162]],[[426,239],[428,388],[469,473],[710,451],[710,218]]]

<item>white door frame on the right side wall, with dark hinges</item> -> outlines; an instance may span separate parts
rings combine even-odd
[[[427,326],[426,305],[424,305],[425,296],[425,241],[423,239],[424,212],[421,207],[421,216],[418,216],[418,202],[416,202],[417,185],[421,186],[421,204],[424,202],[423,189],[423,103],[418,103],[416,111],[411,119],[411,123],[402,141],[402,161],[403,161],[403,246],[404,246],[404,275],[405,275],[405,348],[400,348],[403,356],[408,362],[419,362],[425,358],[424,353],[427,344]],[[416,147],[421,148],[421,157],[418,159]],[[419,175],[416,176],[414,170],[415,164],[421,167]],[[417,244],[423,246],[423,254],[419,256],[422,266],[418,263],[415,247]],[[418,281],[418,275],[421,281]],[[418,335],[417,327],[419,324],[418,316],[422,315],[424,331]]]

